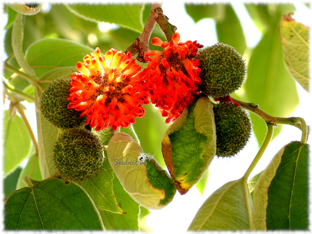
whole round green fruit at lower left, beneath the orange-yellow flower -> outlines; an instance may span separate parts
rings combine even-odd
[[[54,144],[53,160],[63,179],[90,179],[103,164],[100,139],[86,129],[66,129]]]

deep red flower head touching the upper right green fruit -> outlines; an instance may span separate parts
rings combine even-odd
[[[203,46],[197,41],[178,42],[180,35],[177,32],[171,38],[169,42],[163,42],[158,37],[152,39],[153,45],[164,49],[144,54],[149,64],[142,72],[142,76],[150,80],[150,100],[162,116],[167,117],[167,124],[178,118],[184,108],[193,102],[199,94],[197,86],[202,83],[198,76],[199,60],[194,57],[198,48]]]

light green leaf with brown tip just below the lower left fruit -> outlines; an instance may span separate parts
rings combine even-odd
[[[91,180],[81,181],[79,185],[90,195],[98,210],[123,214],[113,192],[113,178],[113,169],[105,159],[98,175]]]

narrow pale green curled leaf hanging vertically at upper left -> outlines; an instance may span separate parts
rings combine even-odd
[[[25,72],[29,73],[30,75],[35,75],[35,71],[26,61],[24,54],[23,54],[23,16],[22,14],[18,13],[15,22],[13,24],[12,29],[12,48],[14,52],[14,56],[19,64]]]

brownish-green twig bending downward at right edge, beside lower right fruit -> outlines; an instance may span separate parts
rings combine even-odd
[[[232,98],[232,97],[231,97]],[[302,131],[301,142],[304,144],[308,140],[308,127],[305,123],[305,120],[300,117],[276,117],[269,115],[265,111],[259,108],[259,105],[256,105],[253,102],[243,102],[241,100],[232,98],[233,101],[239,103],[242,108],[251,111],[252,113],[258,115],[261,119],[263,119],[267,124],[273,124],[273,126],[277,126],[277,124],[288,124],[299,128]]]

